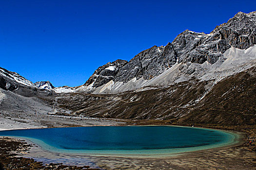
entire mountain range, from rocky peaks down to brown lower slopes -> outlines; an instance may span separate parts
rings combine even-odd
[[[241,13],[212,34],[186,30],[174,43],[99,67],[77,87],[40,89],[45,82],[36,87],[0,69],[0,112],[255,124],[255,19]]]

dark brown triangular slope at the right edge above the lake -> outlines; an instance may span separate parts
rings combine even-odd
[[[256,67],[217,83],[179,122],[256,124]]]

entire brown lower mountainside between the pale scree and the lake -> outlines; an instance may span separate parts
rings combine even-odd
[[[63,94],[55,105],[74,114],[121,119],[178,119],[178,123],[255,124],[256,67],[212,85],[189,81],[122,94]]]

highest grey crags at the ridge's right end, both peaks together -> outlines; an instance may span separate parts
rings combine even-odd
[[[256,12],[245,14],[239,12],[227,23],[217,26],[210,34],[201,33],[196,37],[185,31],[172,42],[178,53],[179,62],[202,64],[208,61],[217,62],[222,54],[231,46],[238,49],[248,49],[256,44]]]

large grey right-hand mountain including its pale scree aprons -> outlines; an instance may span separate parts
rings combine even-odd
[[[115,74],[103,72],[101,75],[101,70],[108,68],[109,63],[101,66],[78,90],[115,93],[148,89],[147,86],[172,85],[192,78],[219,81],[253,66],[255,44],[256,12],[239,12],[210,34],[186,30],[166,46],[154,46],[142,51],[128,63],[120,65]],[[227,65],[231,58],[239,62]],[[225,73],[220,76],[219,71]]]

